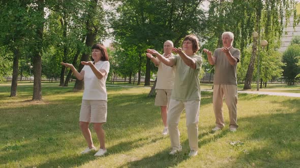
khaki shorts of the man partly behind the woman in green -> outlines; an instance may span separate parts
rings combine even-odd
[[[171,89],[157,89],[155,103],[156,106],[168,106],[171,98]]]

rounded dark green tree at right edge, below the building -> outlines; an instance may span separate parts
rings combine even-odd
[[[296,76],[300,72],[300,67],[297,66],[298,57],[300,56],[300,45],[291,45],[283,54],[282,62],[286,66],[283,66],[283,78],[288,85],[294,85],[296,82]]]

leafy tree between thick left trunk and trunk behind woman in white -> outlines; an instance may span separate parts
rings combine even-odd
[[[72,57],[80,54],[83,45],[82,36],[84,34],[84,22],[80,12],[86,7],[82,0],[65,1],[60,0],[59,3],[52,6],[49,10],[47,19],[47,35],[51,46],[57,50],[57,56],[61,57],[62,62],[72,62]],[[75,59],[75,65],[77,63]],[[68,86],[68,80],[65,79],[65,66],[61,66],[59,86]],[[69,73],[68,79],[71,74]]]

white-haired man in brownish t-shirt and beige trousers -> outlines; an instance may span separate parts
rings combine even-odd
[[[232,47],[233,38],[232,32],[224,32],[222,34],[223,48],[216,49],[213,56],[212,52],[203,49],[207,54],[209,64],[216,65],[213,94],[216,127],[213,131],[221,130],[225,126],[222,111],[223,97],[225,97],[229,111],[229,130],[235,132],[238,127],[236,64],[239,62],[241,52]]]

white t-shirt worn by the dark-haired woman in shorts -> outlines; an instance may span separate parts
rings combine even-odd
[[[83,100],[107,100],[105,82],[109,72],[109,62],[98,61],[95,63],[95,67],[98,70],[104,69],[106,74],[102,77],[102,79],[98,79],[91,67],[84,65],[82,68],[82,70],[84,70]]]

